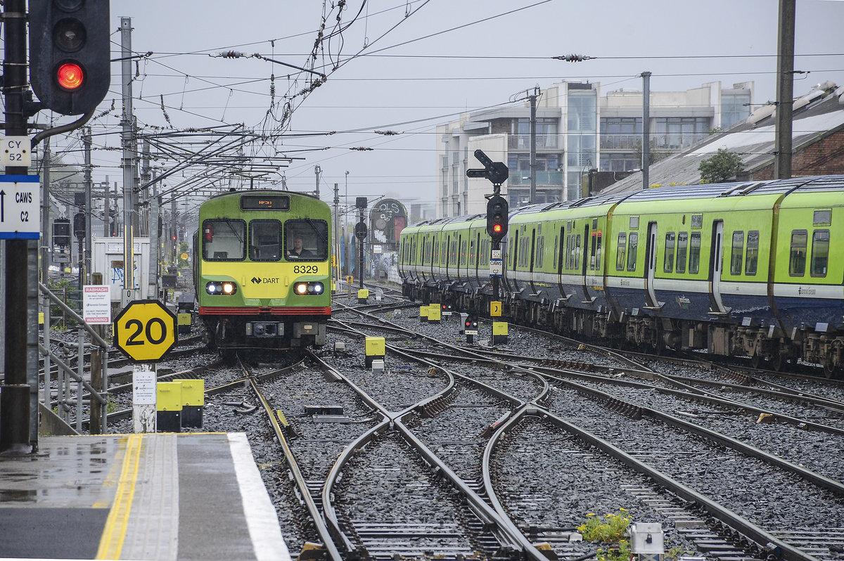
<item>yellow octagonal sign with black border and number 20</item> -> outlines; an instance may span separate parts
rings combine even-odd
[[[176,345],[176,316],[158,300],[133,300],[114,320],[114,344],[135,362],[154,362]]]

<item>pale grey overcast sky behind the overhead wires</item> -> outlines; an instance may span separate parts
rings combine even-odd
[[[284,95],[304,89],[306,75],[256,58],[209,55],[242,51],[306,65],[323,13],[329,18],[325,35],[337,23],[331,2],[111,2],[112,29],[119,28],[121,17],[131,18],[133,51],[154,53],[138,62],[133,83],[139,125],[150,130],[243,123],[258,132],[316,132],[275,144],[282,153],[305,158],[284,170],[289,189],[312,191],[314,166],[320,165],[324,200],[333,197],[335,182],[344,194],[348,170],[350,197],[387,194],[409,204],[434,200],[437,124],[460,111],[506,104],[536,85],[544,89],[562,79],[588,80],[600,82],[603,95],[641,89],[639,74],[650,71],[652,91],[715,80],[727,87],[754,81],[757,103],[775,97],[776,0],[370,0],[360,10],[361,3],[348,0],[341,23],[349,27],[318,50],[317,69],[328,73],[327,82],[296,97],[289,127],[280,129],[276,117]],[[844,2],[798,0],[794,67],[809,74],[796,75],[795,95],[825,80],[844,84],[842,23]],[[112,41],[116,58],[120,34],[115,32]],[[550,58],[568,54],[595,59]],[[341,66],[332,70],[338,60]],[[107,109],[116,100],[116,110],[93,123],[99,135],[94,178],[104,181],[108,175],[112,185],[122,182],[120,152],[114,149],[120,147],[120,69],[112,64],[112,88],[103,103]],[[268,115],[271,74],[276,106]],[[289,74],[299,81],[289,80]],[[42,112],[39,119],[45,118]],[[402,134],[382,136],[376,130]],[[68,162],[81,162],[73,151],[78,140],[53,142],[59,149],[71,148]],[[256,150],[269,153],[267,145]],[[176,181],[181,176],[167,182]]]

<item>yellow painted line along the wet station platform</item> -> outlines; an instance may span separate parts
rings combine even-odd
[[[100,537],[97,559],[119,559],[129,525],[129,513],[135,496],[135,482],[138,479],[139,458],[143,434],[130,434],[126,454],[120,471],[120,480],[111,503],[111,511],[106,519],[106,527]]]

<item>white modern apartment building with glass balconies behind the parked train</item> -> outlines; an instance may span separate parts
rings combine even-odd
[[[601,96],[600,84],[560,82],[540,92],[536,109],[536,200],[582,197],[589,170],[641,167],[642,92],[620,89]],[[651,92],[651,160],[690,146],[712,131],[743,121],[752,110],[753,83],[702,84],[684,92]],[[530,202],[530,105],[463,113],[436,129],[439,169],[437,217],[484,213],[485,179],[466,170],[483,167],[478,148],[505,162],[510,177],[501,187],[511,208]]]

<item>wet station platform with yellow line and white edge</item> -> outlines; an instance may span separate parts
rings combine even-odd
[[[290,558],[243,433],[43,437],[0,458],[0,536],[0,558]]]

